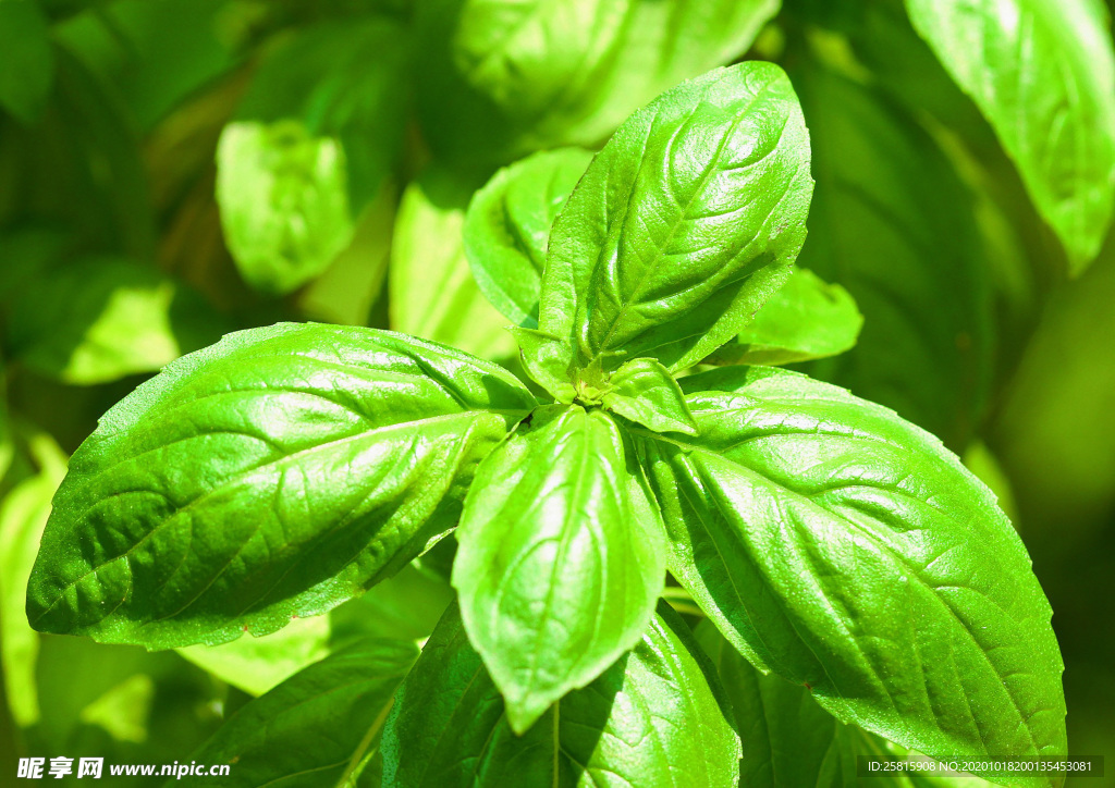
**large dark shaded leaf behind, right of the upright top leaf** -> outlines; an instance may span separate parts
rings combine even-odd
[[[991,362],[987,255],[956,168],[903,109],[814,59],[793,72],[817,178],[799,263],[855,298],[856,347],[811,373],[963,447]]]

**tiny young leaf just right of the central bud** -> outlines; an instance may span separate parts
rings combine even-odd
[[[681,388],[653,359],[632,359],[615,370],[601,401],[620,416],[656,432],[697,434]]]

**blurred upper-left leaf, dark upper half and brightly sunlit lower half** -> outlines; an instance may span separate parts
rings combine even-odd
[[[307,30],[268,60],[217,147],[217,203],[244,279],[284,294],[321,274],[398,155],[405,31],[381,20]]]

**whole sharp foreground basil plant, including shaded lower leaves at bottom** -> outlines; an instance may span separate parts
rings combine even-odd
[[[338,652],[219,732],[202,755],[235,785],[855,785],[861,757],[1064,759],[1049,604],[995,496],[893,411],[748,366],[772,352],[756,315],[804,275],[809,166],[786,75],[720,68],[474,198],[469,262],[525,377],[323,324],[174,361],[74,455],[31,624],[220,644],[452,561],[420,651]]]

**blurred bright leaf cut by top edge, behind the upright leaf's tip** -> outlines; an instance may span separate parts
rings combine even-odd
[[[778,0],[419,3],[419,115],[458,164],[594,147],[662,90],[741,55],[777,10]]]

